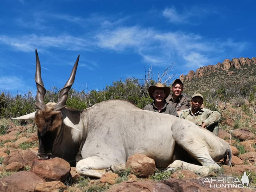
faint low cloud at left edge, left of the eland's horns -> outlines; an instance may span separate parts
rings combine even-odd
[[[25,82],[16,76],[0,76],[0,90],[19,90],[25,87]]]

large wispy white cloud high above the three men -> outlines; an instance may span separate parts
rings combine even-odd
[[[232,39],[206,39],[198,34],[177,32],[159,32],[139,26],[119,27],[105,30],[96,35],[98,46],[117,52],[132,48],[143,57],[143,61],[152,65],[163,65],[183,59],[190,68],[211,64],[213,55],[226,50],[241,47],[246,42],[234,42]]]

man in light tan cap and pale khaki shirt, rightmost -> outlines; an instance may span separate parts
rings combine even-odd
[[[196,93],[192,95],[190,109],[182,110],[179,118],[187,119],[196,125],[203,127],[215,135],[219,133],[218,121],[221,114],[218,111],[201,108],[203,104],[203,95]]]

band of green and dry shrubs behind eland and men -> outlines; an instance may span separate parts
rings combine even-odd
[[[161,79],[160,79],[161,81]],[[144,106],[153,102],[148,94],[148,87],[155,85],[157,81],[152,79],[152,76],[146,76],[145,79],[127,78],[125,81],[121,79],[113,82],[113,85],[107,85],[101,91],[91,90],[77,91],[71,89],[67,99],[67,106],[82,110],[93,106],[96,103],[110,100],[110,99],[125,99],[134,103],[139,108],[143,109]],[[170,82],[166,83],[170,86]],[[46,91],[44,98],[45,103],[57,102],[59,98],[60,89],[52,87],[51,90]],[[204,107],[210,110],[219,110],[219,103],[234,103],[234,106],[241,107],[245,104],[245,99],[254,105],[255,102],[256,86],[253,82],[242,82],[241,84],[226,83],[213,88],[211,91],[207,90],[202,92],[204,96]],[[193,93],[186,92],[184,95],[188,98]],[[31,113],[36,110],[35,97],[31,91],[21,95],[17,93],[12,95],[10,92],[2,92],[0,95],[0,117],[18,117]],[[243,107],[244,111],[249,109]],[[221,111],[220,111],[221,112]]]

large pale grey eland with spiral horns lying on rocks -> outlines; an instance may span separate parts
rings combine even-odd
[[[81,175],[100,178],[106,169],[122,169],[129,156],[153,158],[156,166],[183,167],[207,174],[215,163],[229,157],[230,146],[210,131],[173,115],[139,109],[123,100],[109,100],[82,111],[66,107],[79,55],[57,103],[43,102],[46,89],[36,50],[37,111],[14,119],[34,119],[39,159],[61,157]],[[197,162],[195,165],[191,162]]]

